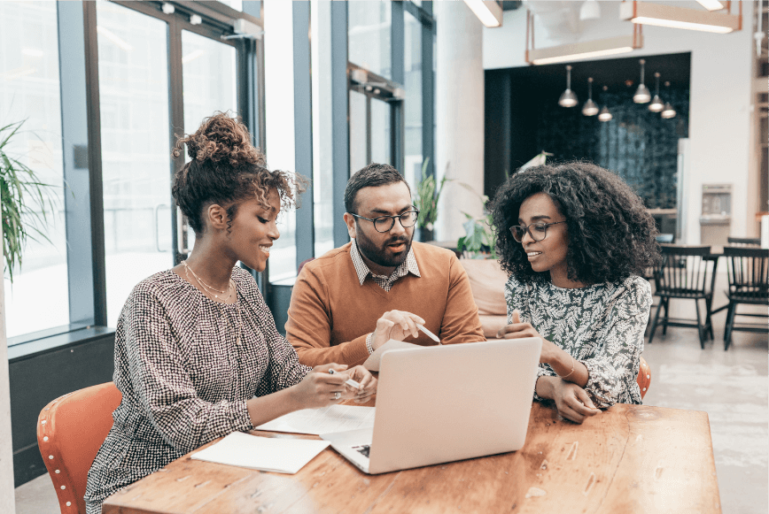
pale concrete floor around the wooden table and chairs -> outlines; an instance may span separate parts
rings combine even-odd
[[[696,329],[671,327],[666,336],[657,330],[654,343],[643,352],[652,371],[644,403],[705,410],[724,514],[765,514],[769,511],[767,336],[736,332],[725,352],[725,321],[724,312],[714,317],[716,338],[705,349],[700,349]],[[16,488],[16,514],[58,511],[48,475]]]

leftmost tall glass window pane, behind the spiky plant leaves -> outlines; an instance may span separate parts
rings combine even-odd
[[[43,189],[53,203],[47,221],[25,220],[50,242],[30,239],[13,285],[4,281],[6,334],[13,337],[69,323],[56,2],[0,2],[0,105],[0,127],[26,119],[5,153],[53,186]]]

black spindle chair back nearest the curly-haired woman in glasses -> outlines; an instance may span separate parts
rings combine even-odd
[[[662,259],[655,265],[656,295],[679,298],[705,294],[710,246],[661,244]]]

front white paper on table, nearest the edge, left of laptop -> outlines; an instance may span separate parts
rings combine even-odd
[[[263,472],[293,474],[329,444],[328,441],[276,439],[233,432],[216,444],[193,453],[192,458]]]

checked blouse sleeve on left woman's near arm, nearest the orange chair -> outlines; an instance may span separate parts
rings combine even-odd
[[[252,428],[245,401],[210,403],[198,397],[167,311],[149,286],[134,289],[122,316],[128,380],[167,444],[187,453],[222,435]]]

